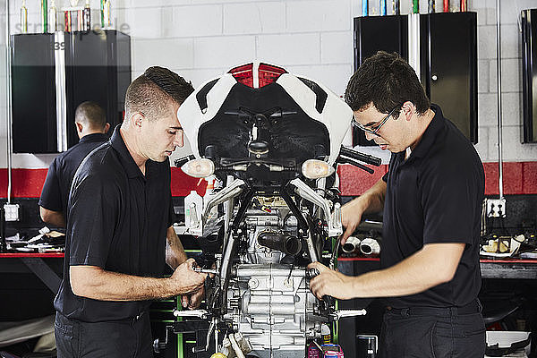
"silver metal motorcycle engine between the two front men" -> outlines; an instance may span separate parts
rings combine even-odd
[[[224,318],[250,341],[252,355],[303,358],[306,340],[320,337],[326,319],[316,315],[319,301],[311,294],[305,269],[283,263],[288,254],[260,243],[263,236],[300,243],[296,218],[284,205],[264,208],[247,212],[247,253],[232,268]],[[290,247],[296,246],[283,246]]]

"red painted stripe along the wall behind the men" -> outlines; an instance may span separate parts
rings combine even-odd
[[[498,195],[498,163],[485,163],[485,194]],[[373,167],[374,175],[354,166],[339,166],[341,193],[345,196],[361,195],[376,183],[388,170],[388,166]],[[504,194],[537,194],[537,162],[504,163]],[[192,190],[200,195],[205,192],[207,183],[198,178],[185,175],[180,168],[172,167],[172,195],[186,196]],[[13,169],[12,197],[38,198],[47,169]],[[0,169],[0,198],[7,197],[7,169]]]

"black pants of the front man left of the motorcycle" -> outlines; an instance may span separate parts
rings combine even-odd
[[[56,312],[55,341],[58,358],[153,356],[149,314],[132,320],[81,322]]]

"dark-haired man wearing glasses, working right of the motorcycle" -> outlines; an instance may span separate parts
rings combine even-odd
[[[383,210],[380,269],[347,277],[320,263],[317,297],[383,297],[379,357],[482,357],[479,239],[484,174],[464,134],[430,104],[412,67],[379,52],[345,91],[355,125],[388,149],[388,173],[343,207],[345,234]]]

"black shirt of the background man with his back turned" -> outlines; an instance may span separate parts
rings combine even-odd
[[[81,141],[57,156],[48,166],[47,179],[43,185],[41,198],[39,198],[39,206],[53,211],[62,211],[65,214],[72,177],[76,169],[91,150],[96,149],[107,139],[107,135],[103,133],[85,135]]]

